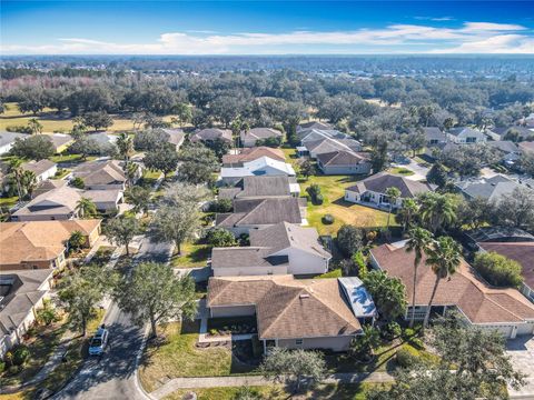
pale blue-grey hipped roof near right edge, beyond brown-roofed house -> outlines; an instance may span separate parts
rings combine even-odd
[[[487,200],[498,200],[503,194],[513,193],[517,188],[525,188],[502,174],[492,178],[463,180],[456,182],[455,186],[471,199],[483,198]]]

